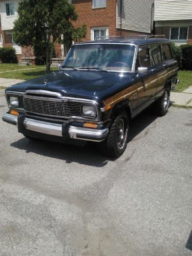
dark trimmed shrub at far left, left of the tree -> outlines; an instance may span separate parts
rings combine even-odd
[[[0,48],[0,59],[2,63],[18,63],[15,49],[12,47]]]

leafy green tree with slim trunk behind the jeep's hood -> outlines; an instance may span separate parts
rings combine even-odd
[[[80,41],[86,26],[74,28],[77,14],[68,0],[22,0],[14,22],[14,41],[20,46],[45,49],[46,72],[50,73],[51,57],[56,42]]]

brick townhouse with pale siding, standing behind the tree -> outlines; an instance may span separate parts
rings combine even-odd
[[[69,0],[78,19],[74,26],[87,26],[83,41],[98,36],[150,34],[153,29],[154,0]],[[14,43],[13,22],[18,18],[19,0],[0,0],[0,47],[13,46],[18,59],[30,57],[33,51]],[[66,55],[70,45],[55,45],[56,54]]]

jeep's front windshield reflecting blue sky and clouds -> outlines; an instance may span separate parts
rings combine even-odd
[[[71,47],[62,68],[130,72],[135,46],[125,44],[82,44]]]

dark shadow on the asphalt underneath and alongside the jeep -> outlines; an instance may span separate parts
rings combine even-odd
[[[134,118],[130,125],[129,141],[137,137],[156,118],[157,116],[151,115],[149,110],[143,111],[141,115]],[[134,140],[137,140],[137,138]],[[11,146],[25,150],[26,153],[33,152],[47,157],[62,159],[66,163],[77,162],[90,166],[103,167],[108,161],[115,160],[102,155],[97,148],[97,143],[93,142],[87,143],[84,147],[78,147],[43,140],[30,141],[22,138],[11,143]]]

